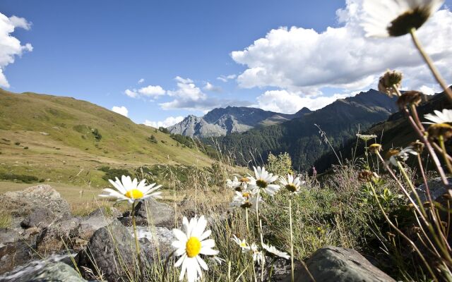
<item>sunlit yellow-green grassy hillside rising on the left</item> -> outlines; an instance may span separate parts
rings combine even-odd
[[[0,175],[97,187],[106,184],[102,166],[153,164],[203,167],[213,160],[89,102],[0,90]]]

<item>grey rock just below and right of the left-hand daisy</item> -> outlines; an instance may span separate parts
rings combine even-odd
[[[174,225],[174,209],[169,204],[157,202],[153,198],[149,198],[145,202],[138,202],[135,214],[143,219],[148,219],[148,223],[153,226],[172,227]]]

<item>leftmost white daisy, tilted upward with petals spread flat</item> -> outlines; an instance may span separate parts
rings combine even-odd
[[[121,180],[116,178],[116,181],[109,179],[114,188],[102,189],[105,194],[99,195],[99,197],[115,197],[118,201],[129,201],[130,203],[145,200],[149,197],[160,198],[162,192],[155,192],[162,185],[155,186],[155,183],[146,185],[146,180],[143,179],[138,183],[136,178],[131,179],[130,176],[121,176]]]

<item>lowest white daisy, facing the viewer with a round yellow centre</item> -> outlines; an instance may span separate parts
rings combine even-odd
[[[203,271],[208,270],[206,262],[200,257],[200,255],[216,256],[218,250],[213,250],[215,247],[215,241],[213,239],[207,239],[212,231],[206,229],[207,221],[204,216],[199,219],[196,216],[190,219],[190,222],[184,216],[182,219],[182,225],[184,231],[174,228],[172,232],[177,238],[172,243],[172,246],[176,248],[174,255],[179,257],[174,266],[181,268],[181,274],[179,281],[184,279],[185,273],[187,281],[194,282],[203,276]]]

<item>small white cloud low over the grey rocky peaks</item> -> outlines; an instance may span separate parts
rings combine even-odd
[[[161,103],[162,109],[184,109],[187,111],[208,111],[223,106],[249,106],[251,103],[235,99],[216,99],[209,97],[201,88],[195,85],[189,78],[174,78],[177,89],[167,91],[169,97],[174,97],[170,102]]]

